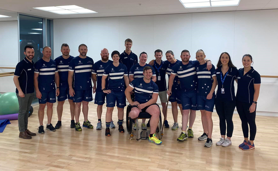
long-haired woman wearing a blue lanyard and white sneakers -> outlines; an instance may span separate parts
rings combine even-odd
[[[229,53],[221,53],[216,69],[216,80],[218,84],[215,96],[215,109],[219,116],[221,138],[216,145],[227,147],[232,144],[233,134],[233,112],[235,110],[235,86],[238,71],[233,65]],[[227,138],[226,138],[227,122]]]

